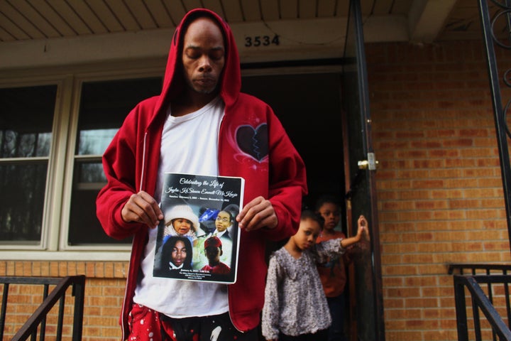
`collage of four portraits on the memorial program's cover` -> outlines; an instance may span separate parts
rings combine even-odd
[[[158,227],[153,276],[191,281],[229,282],[235,278],[237,205],[209,209],[214,229],[207,233],[199,212],[204,207],[180,203],[168,207]],[[197,212],[197,213],[196,213]]]

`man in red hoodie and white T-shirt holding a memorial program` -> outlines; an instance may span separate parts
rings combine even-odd
[[[109,236],[133,236],[123,340],[258,340],[265,242],[295,234],[307,182],[273,110],[240,90],[231,29],[214,12],[189,11],[172,36],[161,94],[137,104],[104,153],[97,216]],[[236,283],[153,276],[166,172],[245,179]]]

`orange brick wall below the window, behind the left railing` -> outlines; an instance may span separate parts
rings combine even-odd
[[[119,313],[121,311],[127,262],[114,261],[0,261],[0,276],[86,275],[83,320],[83,341],[119,341]],[[1,291],[0,291],[1,296]],[[11,285],[6,313],[4,340],[9,340],[42,302],[40,287]],[[66,316],[64,340],[70,340],[72,325],[72,296],[65,299]],[[55,335],[57,310],[48,318],[46,340]],[[53,334],[52,334],[53,333]]]

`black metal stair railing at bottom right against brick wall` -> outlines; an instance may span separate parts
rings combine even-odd
[[[454,300],[458,341],[511,341],[510,271],[507,264],[449,264],[449,274],[457,273]],[[467,302],[471,307],[467,308]]]

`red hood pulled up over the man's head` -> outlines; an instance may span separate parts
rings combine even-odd
[[[170,43],[170,51],[167,58],[167,67],[163,77],[163,88],[155,107],[154,115],[158,114],[162,109],[167,108],[167,104],[180,94],[185,82],[182,76],[182,45],[186,30],[189,23],[197,18],[208,17],[213,19],[219,26],[224,35],[225,43],[225,65],[219,80],[220,96],[226,103],[226,106],[236,101],[241,90],[241,69],[238,55],[238,48],[234,40],[233,33],[229,25],[218,14],[209,9],[192,9],[182,18],[177,25],[172,41]]]

